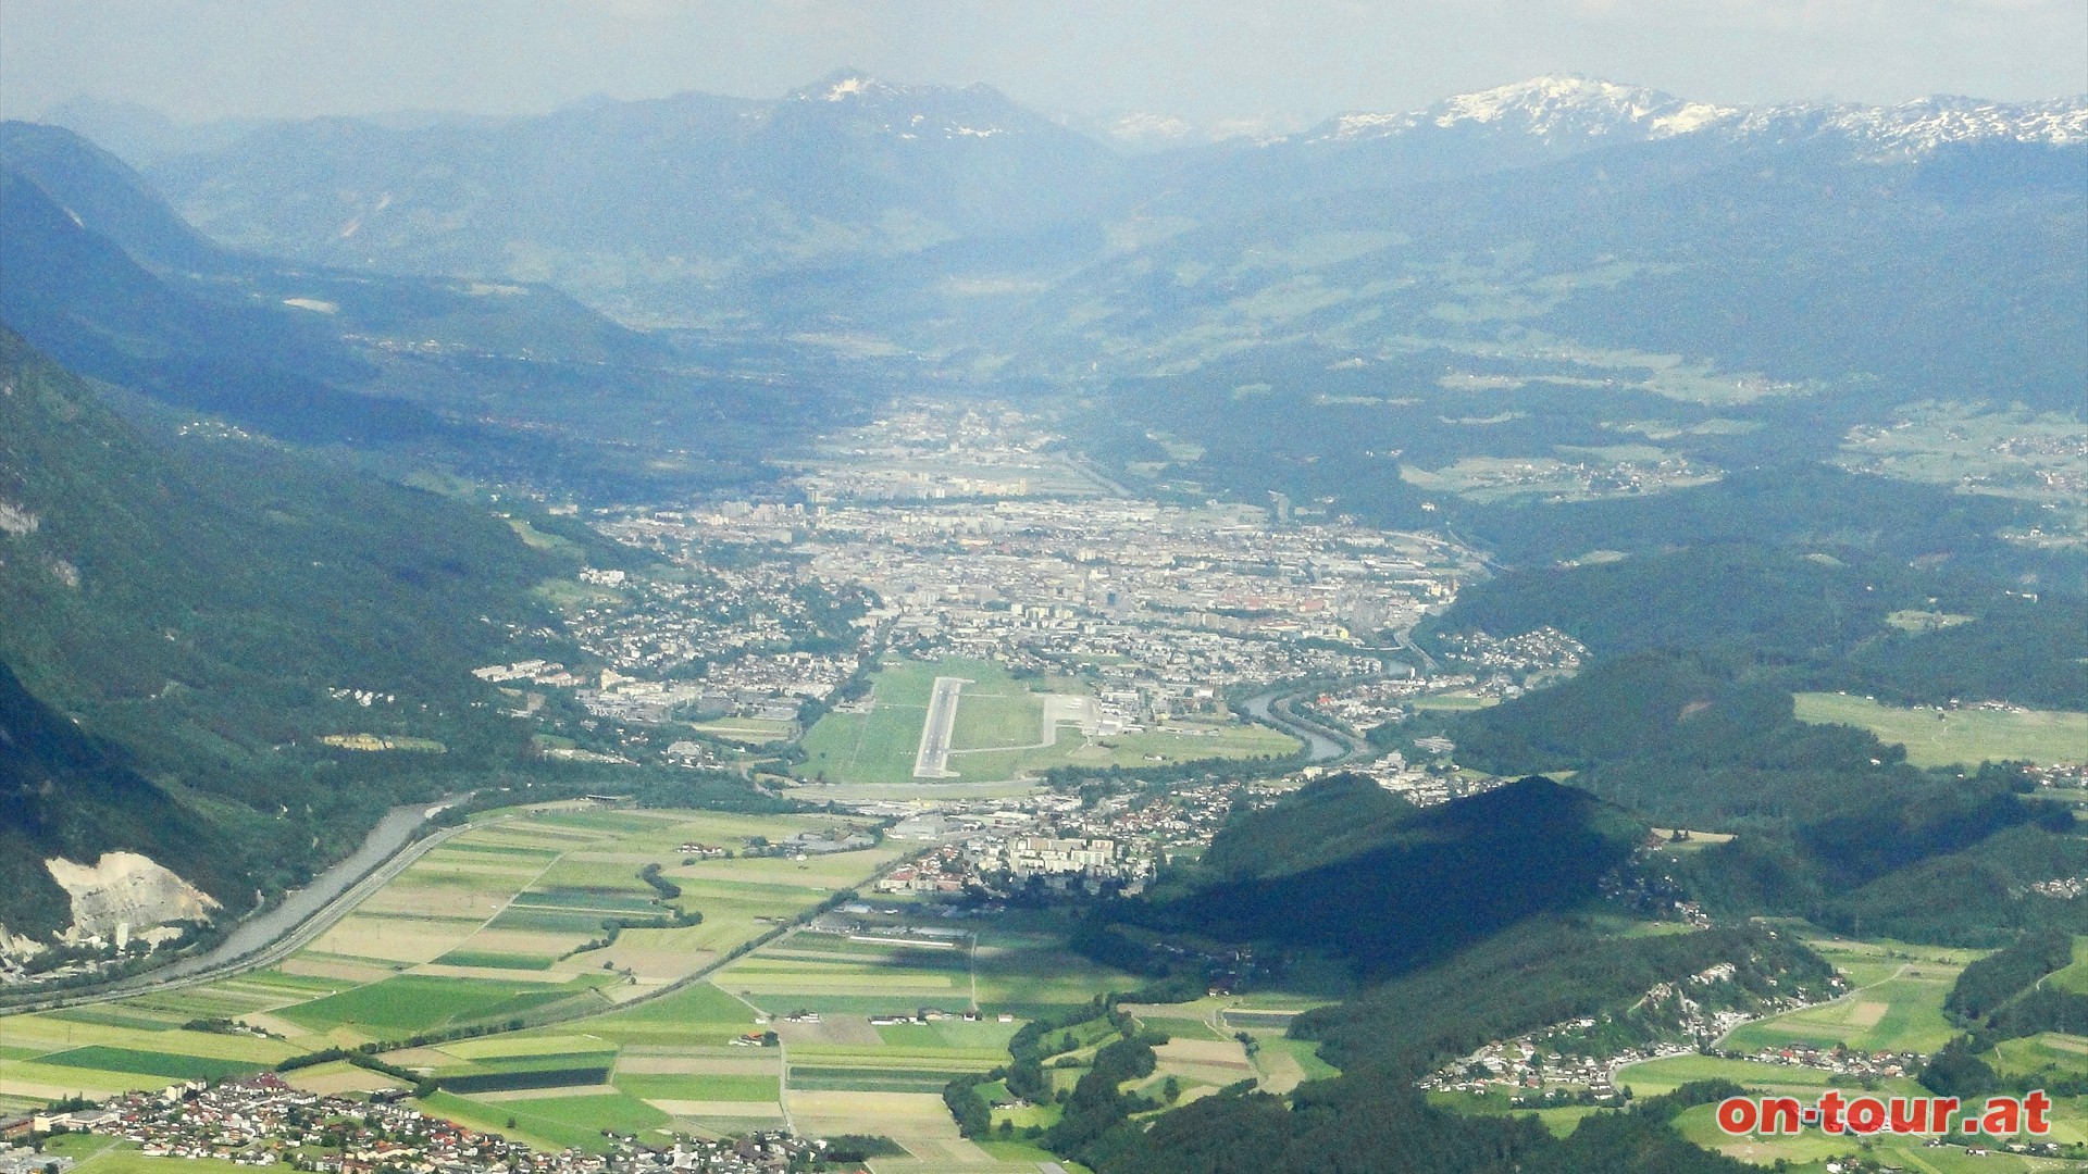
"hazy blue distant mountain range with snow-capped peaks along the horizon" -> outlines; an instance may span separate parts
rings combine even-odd
[[[1537,77],[1121,155],[986,86],[860,71],[773,102],[269,123],[142,171],[213,240],[301,265],[543,282],[710,345],[954,378],[1505,332],[1913,393],[2004,372],[2044,401],[2082,359],[2057,326],[2084,175],[2088,98],[1741,109]]]

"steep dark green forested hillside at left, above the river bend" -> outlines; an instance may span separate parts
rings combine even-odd
[[[384,806],[522,760],[468,671],[539,627],[528,589],[553,566],[495,518],[274,443],[155,439],[0,330],[4,717],[44,731],[0,756],[56,788],[10,811],[8,854],[173,846],[205,888],[296,884]],[[94,748],[52,742],[75,737],[63,719]],[[319,742],[342,731],[449,752]],[[0,921],[48,930],[50,896],[0,886]]]

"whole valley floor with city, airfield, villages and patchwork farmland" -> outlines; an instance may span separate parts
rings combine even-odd
[[[512,633],[570,652],[472,677],[535,756],[585,771],[585,798],[459,796],[461,819],[269,948],[96,988],[180,940],[152,923],[196,900],[140,871],[63,965],[31,950],[0,971],[33,1009],[0,1019],[0,1172],[111,1147],[228,1174],[1063,1170],[1042,1145],[1113,1040],[1153,1051],[1125,1084],[1146,1109],[1338,1072],[1290,1030],[1338,996],[1299,959],[1153,936],[1132,948],[1173,976],[1163,994],[1140,959],[1071,948],[1090,911],[1311,779],[1420,808],[1501,788],[1460,765],[1445,719],[1589,656],[1551,627],[1439,631],[1424,652],[1416,625],[1489,577],[1451,535],[1280,495],[1136,497],[1006,407],[896,403],[783,468],[766,497],[509,499],[524,541],[570,545],[530,522],[555,518],[595,545],[539,589],[557,627]],[[330,700],[374,727],[399,706],[351,683]],[[324,742],[401,767],[445,752],[386,729]],[[637,779],[662,773],[752,781],[770,806],[649,802]],[[1725,840],[1654,831],[1633,879],[1604,882],[1608,915],[1710,930],[1660,873]],[[152,886],[159,905],[136,896]],[[1833,971],[1718,963],[1411,1084],[1576,1116],[1702,1072],[1908,1080],[1933,1030],[1844,1028],[1879,1024],[1871,992],[1896,984],[1940,1015],[1971,959],[1812,944]],[[1027,1084],[1025,1055],[1048,1061]]]

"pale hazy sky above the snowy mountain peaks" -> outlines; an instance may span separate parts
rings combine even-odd
[[[180,119],[775,96],[854,65],[1027,104],[1324,117],[1535,73],[1691,98],[2088,92],[2088,0],[0,0],[0,113]]]

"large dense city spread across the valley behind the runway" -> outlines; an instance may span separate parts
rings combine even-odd
[[[601,591],[574,610],[574,633],[626,677],[699,683],[699,700],[729,694],[745,717],[760,714],[758,696],[827,696],[850,656],[898,648],[1086,671],[1102,721],[1130,727],[1213,712],[1232,685],[1403,671],[1361,648],[1478,570],[1430,535],[1098,493],[1042,451],[1054,441],[1015,412],[910,409],[829,445],[798,478],[810,501],[601,518],[610,537],[679,568],[626,577],[614,600]],[[1044,472],[931,472],[1031,466]],[[852,618],[850,656],[816,673],[764,658],[808,635],[806,591],[879,604]],[[708,671],[683,671],[697,662]]]

